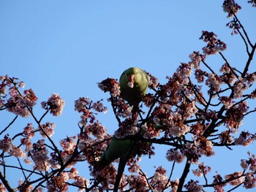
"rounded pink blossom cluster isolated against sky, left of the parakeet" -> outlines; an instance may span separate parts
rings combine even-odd
[[[53,116],[59,116],[63,111],[65,101],[61,99],[58,93],[53,93],[48,101],[42,101],[41,105],[43,109],[50,110]]]

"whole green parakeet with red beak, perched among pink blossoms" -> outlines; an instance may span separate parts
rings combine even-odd
[[[131,67],[121,74],[119,82],[121,97],[128,101],[130,106],[133,106],[133,111],[138,112],[141,98],[146,94],[148,88],[148,74],[142,69]],[[101,170],[117,158],[121,158],[127,154],[129,147],[132,146],[132,142],[132,139],[118,139],[113,135],[110,144],[97,162],[97,169]]]

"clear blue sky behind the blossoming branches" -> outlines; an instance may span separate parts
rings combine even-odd
[[[238,18],[255,42],[255,9],[246,1],[238,4],[243,7]],[[59,93],[66,102],[63,114],[45,118],[56,123],[53,138],[58,141],[78,132],[80,115],[73,106],[80,96],[94,101],[103,98],[109,106],[108,94],[97,88],[97,82],[106,77],[118,79],[124,69],[138,66],[164,83],[181,62],[189,61],[190,53],[204,46],[199,40],[202,30],[214,31],[227,43],[224,54],[239,69],[246,61],[245,47],[238,36],[230,36],[231,31],[225,26],[230,19],[226,15],[222,1],[1,0],[0,75],[18,77],[26,88],[34,90],[39,98],[35,109],[38,116],[43,112],[39,103],[52,93]],[[207,61],[214,69],[223,64],[217,55]],[[246,119],[242,128],[254,128],[255,117],[252,114]],[[1,115],[0,121],[7,118],[10,116]],[[116,130],[118,123],[111,110],[99,118],[110,133]],[[15,128],[23,128],[29,120],[20,119]],[[232,153],[225,149],[224,153],[219,151],[216,157],[207,158],[209,164],[218,166],[212,167],[213,174],[227,170],[227,166],[239,167],[247,150],[255,151],[255,144],[237,147]],[[166,150],[159,153],[164,162]],[[222,159],[224,154],[227,161]],[[239,157],[234,162],[228,160],[230,155]],[[152,165],[162,164],[159,156],[153,158]],[[142,166],[148,165],[142,162]],[[81,172],[88,174],[83,169]]]

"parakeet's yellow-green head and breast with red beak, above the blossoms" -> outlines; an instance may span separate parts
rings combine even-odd
[[[148,74],[137,67],[130,67],[121,74],[119,82],[121,97],[128,101],[130,106],[138,108],[141,96],[146,94],[148,88]]]

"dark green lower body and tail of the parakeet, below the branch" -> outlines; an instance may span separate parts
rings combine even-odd
[[[105,166],[108,166],[117,158],[121,158],[129,151],[129,147],[132,145],[131,139],[116,138],[113,135],[110,144],[108,145],[105,152],[100,156],[100,159],[97,163],[98,169],[103,169]]]

